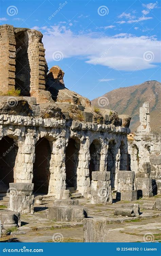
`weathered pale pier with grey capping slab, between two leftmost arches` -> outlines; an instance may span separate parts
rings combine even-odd
[[[10,183],[10,201],[7,209],[21,214],[33,214],[33,189],[33,183]]]

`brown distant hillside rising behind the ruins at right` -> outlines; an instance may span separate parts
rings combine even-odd
[[[103,95],[109,104],[103,108],[112,109],[118,114],[128,114],[131,118],[130,129],[135,132],[139,126],[139,107],[143,102],[150,104],[150,127],[152,131],[161,132],[161,83],[147,81],[139,85],[122,87]],[[99,97],[100,98],[100,97]],[[92,105],[98,105],[99,98],[92,100]]]

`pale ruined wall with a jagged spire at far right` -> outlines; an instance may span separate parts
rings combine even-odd
[[[139,197],[161,194],[160,135],[150,131],[149,103],[140,107],[140,126],[128,140],[129,169],[135,172]]]

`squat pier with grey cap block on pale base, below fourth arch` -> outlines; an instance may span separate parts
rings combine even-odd
[[[92,172],[91,204],[112,204],[110,172]]]

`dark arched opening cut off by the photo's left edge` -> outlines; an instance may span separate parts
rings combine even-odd
[[[17,141],[8,136],[0,140],[0,192],[9,188],[14,182],[14,166],[18,152]]]

